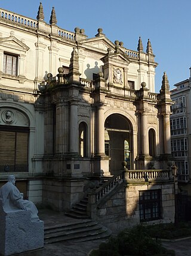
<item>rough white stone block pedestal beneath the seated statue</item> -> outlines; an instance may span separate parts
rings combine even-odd
[[[32,221],[30,210],[5,212],[0,199],[0,255],[11,255],[44,246],[44,221]]]

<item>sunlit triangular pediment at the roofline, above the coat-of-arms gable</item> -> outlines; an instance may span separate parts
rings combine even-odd
[[[115,50],[115,44],[104,36],[83,40],[81,44],[94,49],[97,48],[98,50],[107,51],[108,48],[111,48],[113,51]]]

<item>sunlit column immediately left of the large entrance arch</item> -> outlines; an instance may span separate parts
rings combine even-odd
[[[105,137],[104,137],[104,104],[97,106],[97,153],[105,155]]]

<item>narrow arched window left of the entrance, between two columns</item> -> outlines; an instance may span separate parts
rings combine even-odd
[[[87,125],[85,122],[79,124],[79,155],[87,156]]]

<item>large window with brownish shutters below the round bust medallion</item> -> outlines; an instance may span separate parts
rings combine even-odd
[[[28,170],[28,134],[19,129],[0,130],[0,172]]]

